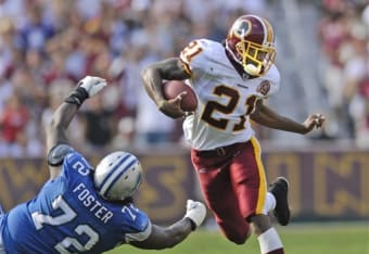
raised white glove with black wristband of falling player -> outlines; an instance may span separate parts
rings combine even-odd
[[[86,76],[80,79],[76,89],[65,98],[66,103],[76,104],[78,107],[87,98],[93,97],[106,86],[106,80],[100,77]]]

